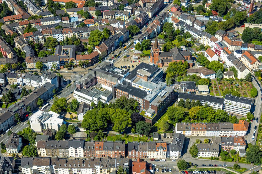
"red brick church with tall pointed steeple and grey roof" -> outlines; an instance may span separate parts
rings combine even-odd
[[[158,45],[157,36],[154,45],[151,47],[150,62],[160,67],[168,66],[171,62],[188,61],[189,67],[193,66],[192,53],[190,51],[181,51],[174,47],[169,52],[162,52]]]

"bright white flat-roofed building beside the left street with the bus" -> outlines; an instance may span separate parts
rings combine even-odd
[[[47,113],[40,110],[31,115],[29,121],[31,129],[35,132],[42,132],[48,128],[58,131],[64,123],[60,114],[53,111]]]

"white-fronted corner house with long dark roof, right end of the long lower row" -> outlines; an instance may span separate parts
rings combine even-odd
[[[185,141],[185,135],[175,133],[172,142],[169,144],[169,155],[170,158],[178,158],[182,154],[183,146]]]

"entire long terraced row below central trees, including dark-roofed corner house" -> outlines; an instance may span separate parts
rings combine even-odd
[[[37,141],[36,144],[37,153],[41,157],[165,159],[169,154],[170,158],[181,156],[184,139],[185,136],[183,134],[174,134],[172,143],[141,141],[128,142],[127,145],[125,145],[123,141],[85,142],[84,140],[40,140]]]

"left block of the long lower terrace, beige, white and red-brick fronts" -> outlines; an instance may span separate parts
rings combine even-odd
[[[37,152],[42,157],[124,158],[123,142],[38,141]],[[160,154],[160,153],[159,153]],[[160,155],[163,153],[161,152]]]

